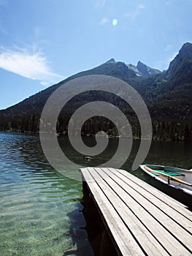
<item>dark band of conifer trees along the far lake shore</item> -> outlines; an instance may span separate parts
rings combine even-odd
[[[56,128],[50,122],[42,125],[48,133],[58,133],[59,135],[67,135],[68,124],[70,118],[68,116],[59,116]],[[134,138],[141,137],[141,128],[139,121],[135,117],[128,117],[131,125],[131,131]],[[39,133],[39,124],[42,122],[37,113],[31,113],[26,116],[1,116],[0,130],[3,132],[21,132],[21,133]],[[95,116],[88,119],[82,125],[80,130],[75,127],[75,122],[71,120],[72,129],[70,132],[75,135],[80,132],[82,136],[94,137],[97,132],[104,131],[110,137],[124,136],[128,137],[128,127],[121,126],[120,134],[115,124],[107,118]],[[192,124],[185,121],[155,121],[152,120],[153,140],[171,140],[171,141],[192,141]]]

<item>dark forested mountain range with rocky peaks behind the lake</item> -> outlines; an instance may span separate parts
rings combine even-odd
[[[192,139],[192,44],[189,42],[183,45],[177,56],[169,64],[169,68],[164,72],[147,67],[141,61],[138,61],[137,66],[134,66],[110,59],[99,67],[72,75],[17,105],[1,110],[0,130],[38,132],[39,117],[48,97],[61,84],[85,75],[110,75],[131,84],[145,100],[150,111],[154,139]],[[128,106],[125,107],[124,103],[120,102],[120,99],[115,99],[105,94],[93,94],[93,92],[85,94],[78,101],[74,99],[73,102],[69,103],[69,111],[62,113],[63,116],[60,116],[58,132],[66,131],[69,113],[72,113],[78,104],[83,105],[86,101],[95,99],[110,101],[112,104],[119,102],[120,108],[126,110],[126,115],[131,118],[135,137],[139,136],[137,117],[134,117],[133,111]],[[95,122],[98,123],[98,120]],[[106,129],[113,130],[111,124]],[[90,133],[90,131],[86,132]],[[92,135],[94,132],[91,130]]]

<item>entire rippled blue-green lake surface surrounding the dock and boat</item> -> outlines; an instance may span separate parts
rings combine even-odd
[[[93,146],[93,138],[85,138]],[[86,163],[69,140],[58,137],[65,154],[79,165],[99,165],[115,153],[110,139],[104,153]],[[93,255],[82,213],[82,183],[62,176],[49,164],[38,135],[0,133],[0,255]],[[153,141],[148,164],[192,168],[192,143]],[[191,207],[189,196],[159,184],[141,170],[131,170],[139,140],[134,140],[123,169]]]

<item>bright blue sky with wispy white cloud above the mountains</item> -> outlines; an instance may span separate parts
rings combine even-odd
[[[191,0],[0,0],[0,109],[114,58],[165,70]]]

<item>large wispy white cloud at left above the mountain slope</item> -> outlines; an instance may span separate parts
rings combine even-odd
[[[53,72],[40,50],[29,53],[26,48],[0,48],[0,68],[21,75],[24,78],[39,80],[42,85],[56,83],[61,75]]]

